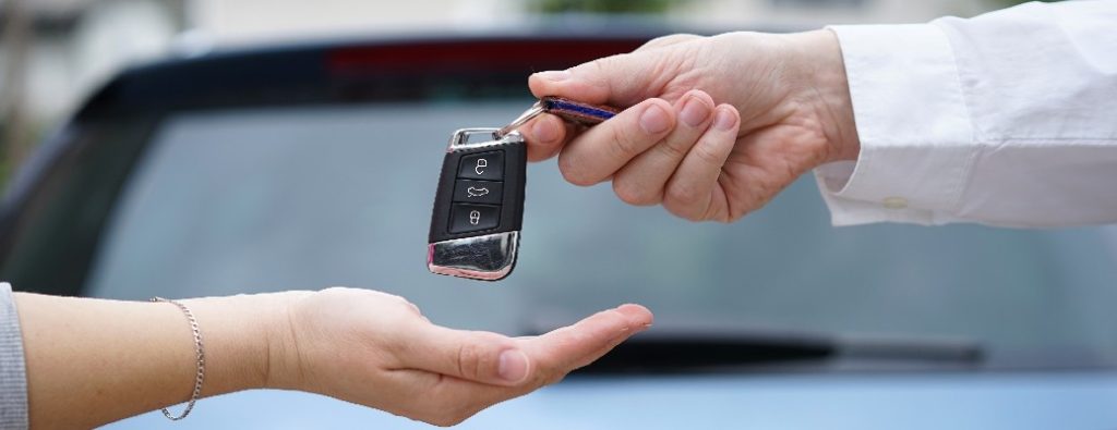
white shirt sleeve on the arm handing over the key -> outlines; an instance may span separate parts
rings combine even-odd
[[[1117,222],[1117,1],[836,26],[861,141],[834,225]]]

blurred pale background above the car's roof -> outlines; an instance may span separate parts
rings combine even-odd
[[[0,0],[0,184],[121,68],[213,47],[338,35],[486,31],[540,20],[805,29],[973,16],[1014,0]]]

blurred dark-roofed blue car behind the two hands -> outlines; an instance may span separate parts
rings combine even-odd
[[[545,332],[620,303],[656,325],[462,429],[1098,429],[1117,423],[1117,229],[834,228],[812,178],[734,224],[633,207],[528,166],[519,261],[427,271],[447,139],[500,127],[526,78],[662,31],[353,38],[122,71],[0,207],[17,290],[121,300],[349,285],[436,323]],[[204,323],[204,322],[203,322]],[[165,426],[157,412],[109,426]],[[248,391],[194,428],[428,428]]]

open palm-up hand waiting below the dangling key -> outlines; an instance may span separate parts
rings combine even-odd
[[[355,289],[289,306],[269,385],[326,394],[438,426],[557,382],[651,324],[639,305],[533,338],[432,324],[407,300]]]

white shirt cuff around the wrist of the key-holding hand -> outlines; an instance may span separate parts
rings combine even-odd
[[[861,152],[815,169],[834,225],[943,224],[976,155],[954,53],[934,25],[836,26]]]

